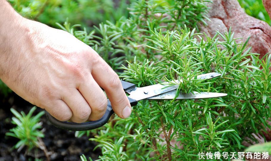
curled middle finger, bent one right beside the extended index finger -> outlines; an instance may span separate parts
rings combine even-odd
[[[79,85],[78,90],[91,107],[90,121],[96,121],[103,117],[107,107],[107,98],[100,86],[92,76]]]

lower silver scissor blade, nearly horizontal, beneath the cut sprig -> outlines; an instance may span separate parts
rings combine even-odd
[[[194,93],[194,94],[193,94]],[[191,93],[179,93],[179,96],[176,99],[206,99],[206,98],[215,98],[227,96],[226,93],[213,93],[213,92],[191,92]],[[176,96],[176,90],[172,90],[166,93],[162,93],[157,96],[148,98],[149,100],[171,100]]]

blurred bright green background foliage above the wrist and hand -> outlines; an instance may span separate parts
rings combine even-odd
[[[9,0],[21,15],[50,26],[64,23],[66,18],[74,24],[92,26],[106,20],[116,21],[127,17],[126,0],[114,4],[114,0]],[[115,5],[117,7],[115,7]]]

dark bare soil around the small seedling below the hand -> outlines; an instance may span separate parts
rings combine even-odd
[[[0,96],[4,98],[4,96]],[[15,127],[11,124],[11,118],[13,114],[10,112],[10,108],[14,108],[18,112],[24,111],[28,113],[32,104],[20,98],[15,93],[11,93],[8,97],[5,97],[0,101],[0,161],[31,161],[38,158],[40,160],[47,160],[45,154],[40,149],[33,149],[29,153],[26,153],[26,148],[23,148],[20,152],[12,147],[18,142],[17,138],[5,136],[11,128]],[[42,111],[37,108],[34,114]],[[66,131],[54,127],[46,118],[45,115],[41,117],[42,127],[44,128],[45,137],[42,138],[50,155],[51,161],[80,161],[80,155],[84,154],[87,158],[91,157],[93,160],[98,159],[101,155],[100,149],[93,151],[97,143],[89,141],[87,136],[81,138],[75,137],[75,132]]]

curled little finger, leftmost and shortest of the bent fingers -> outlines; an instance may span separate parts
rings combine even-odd
[[[59,121],[68,121],[73,116],[72,110],[61,99],[52,101],[51,103],[47,103],[41,108],[44,108],[47,112],[50,113],[50,115],[52,115]]]

